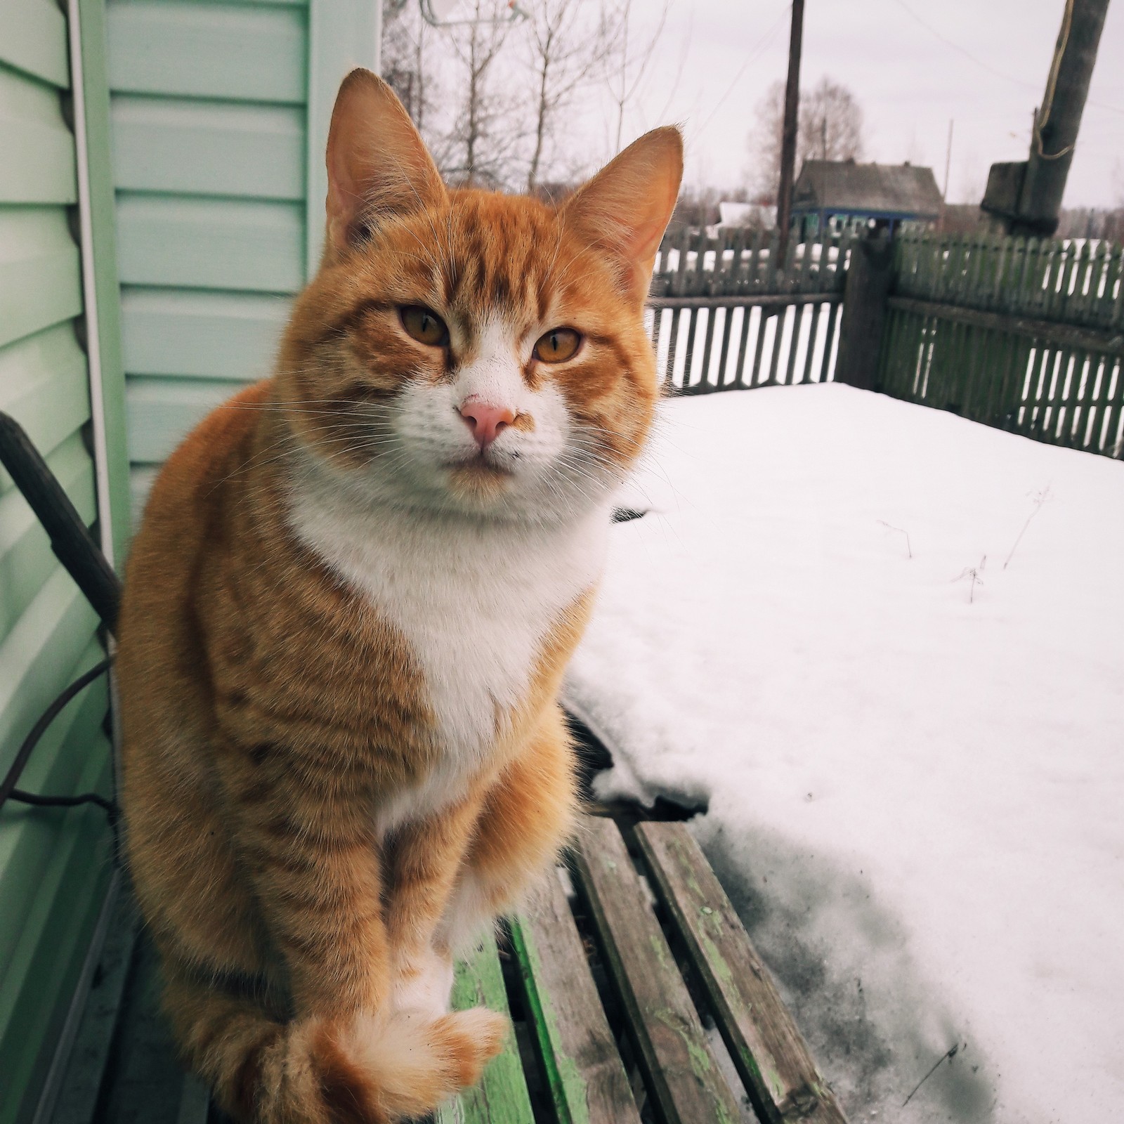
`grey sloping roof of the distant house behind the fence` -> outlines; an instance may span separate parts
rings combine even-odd
[[[941,192],[931,167],[806,160],[792,189],[792,209],[935,218]]]

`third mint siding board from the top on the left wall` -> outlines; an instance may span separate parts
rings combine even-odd
[[[62,208],[0,210],[0,347],[81,311],[78,246]]]

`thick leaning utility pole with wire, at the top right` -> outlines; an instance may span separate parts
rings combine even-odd
[[[991,165],[981,206],[1008,234],[1042,236],[1058,229],[1107,11],[1108,0],[1066,0],[1042,107],[1031,127],[1030,157]]]

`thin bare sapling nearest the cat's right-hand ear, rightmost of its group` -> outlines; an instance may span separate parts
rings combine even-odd
[[[601,3],[592,17],[588,0],[540,0],[529,12],[527,42],[535,78],[534,144],[527,191],[540,181],[559,118],[577,91],[592,81],[613,53],[616,25]]]

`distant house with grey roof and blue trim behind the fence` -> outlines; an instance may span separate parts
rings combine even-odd
[[[931,167],[806,160],[792,189],[792,224],[804,237],[871,224],[892,234],[898,223],[935,223],[942,202]]]

